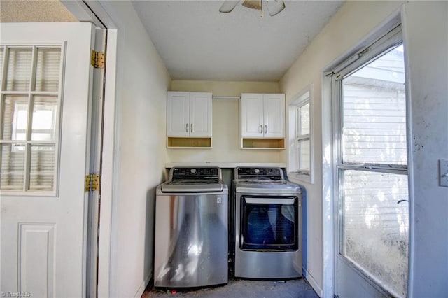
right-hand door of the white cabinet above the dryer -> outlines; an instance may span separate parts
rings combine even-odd
[[[283,138],[285,136],[285,94],[264,94],[265,138]]]

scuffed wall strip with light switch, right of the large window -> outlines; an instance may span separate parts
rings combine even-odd
[[[448,297],[448,2],[409,1],[404,13],[411,120],[410,297]]]

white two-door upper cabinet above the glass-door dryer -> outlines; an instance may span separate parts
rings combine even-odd
[[[241,137],[284,138],[285,94],[241,94]]]

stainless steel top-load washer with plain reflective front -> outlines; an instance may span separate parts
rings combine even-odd
[[[228,186],[218,167],[175,167],[157,187],[154,286],[228,283]]]

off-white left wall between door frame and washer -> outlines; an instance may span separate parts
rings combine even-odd
[[[171,78],[132,4],[101,3],[116,23],[118,53],[109,292],[100,285],[99,296],[134,297],[153,271],[155,187],[165,178]]]

